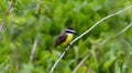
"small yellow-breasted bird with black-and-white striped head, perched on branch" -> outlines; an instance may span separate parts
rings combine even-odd
[[[74,35],[77,35],[74,28],[64,29],[55,40],[54,48],[56,48],[57,46],[68,46],[69,42],[73,40]]]

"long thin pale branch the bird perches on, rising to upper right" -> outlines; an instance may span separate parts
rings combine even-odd
[[[72,46],[75,41],[77,41],[77,40],[80,39],[82,36],[85,36],[86,34],[88,34],[91,29],[94,29],[94,28],[95,28],[97,25],[99,25],[101,22],[106,21],[106,20],[109,19],[109,17],[112,17],[112,16],[114,16],[114,15],[118,15],[118,14],[122,13],[122,12],[129,10],[130,8],[132,8],[132,5],[127,7],[127,8],[122,9],[122,10],[120,10],[120,11],[113,13],[113,14],[110,14],[110,15],[101,19],[101,20],[98,21],[95,25],[92,25],[90,28],[88,28],[85,33],[82,33],[80,36],[76,37],[76,38],[69,44],[69,46]],[[61,57],[58,58],[58,60],[54,63],[54,65],[53,65],[53,68],[51,69],[50,73],[53,73],[53,72],[54,72],[54,69],[56,68],[56,65],[58,64],[58,62],[62,60],[62,58],[65,56],[65,53],[66,53],[67,50],[69,49],[69,46],[67,46],[67,47],[65,48],[64,52],[61,54]]]

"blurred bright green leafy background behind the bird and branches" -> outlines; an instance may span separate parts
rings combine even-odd
[[[57,47],[50,52],[63,29],[73,27],[80,35],[97,21],[131,4],[131,0],[0,0],[0,73],[48,73],[64,50]],[[91,57],[77,73],[132,73],[132,28],[98,47],[131,22],[132,9],[95,27],[72,46],[54,73],[72,73],[89,52]]]

